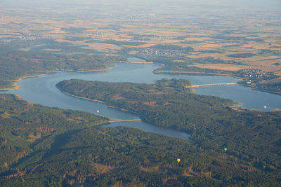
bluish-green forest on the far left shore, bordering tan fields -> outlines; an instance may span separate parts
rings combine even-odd
[[[0,88],[11,88],[11,81],[24,76],[54,71],[104,70],[122,57],[104,54],[56,54],[13,50],[0,46]]]

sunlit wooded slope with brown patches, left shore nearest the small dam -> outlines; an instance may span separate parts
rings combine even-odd
[[[0,172],[24,155],[67,130],[107,123],[91,113],[27,103],[15,95],[0,95]],[[5,167],[4,167],[5,166]]]

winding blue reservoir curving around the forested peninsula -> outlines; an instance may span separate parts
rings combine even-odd
[[[138,59],[133,59],[136,62]],[[142,62],[142,61],[141,61]],[[117,63],[108,71],[94,72],[74,72],[65,71],[53,74],[44,74],[43,76],[25,78],[18,82],[20,90],[8,90],[8,93],[18,94],[27,102],[36,102],[44,106],[59,107],[62,109],[81,110],[95,113],[107,118],[117,120],[138,119],[134,113],[120,111],[105,106],[98,102],[78,99],[66,95],[55,88],[55,84],[72,78],[83,79],[88,81],[109,81],[109,82],[131,82],[131,83],[153,83],[161,78],[186,78],[192,85],[202,85],[210,83],[233,83],[237,82],[236,78],[226,76],[198,76],[188,74],[153,74],[152,71],[158,66],[155,64],[128,64]],[[194,88],[197,94],[214,95],[218,97],[233,99],[242,102],[244,107],[250,109],[259,109],[261,111],[272,111],[281,109],[281,96],[273,95],[266,92],[251,90],[251,88],[241,85],[218,85]],[[264,106],[267,106],[266,109]],[[98,112],[99,111],[99,112]],[[146,132],[155,132],[166,134],[171,137],[181,137],[188,139],[190,136],[184,132],[164,129],[142,121],[132,121],[126,123],[110,123],[105,127],[116,127],[118,125],[135,127]]]

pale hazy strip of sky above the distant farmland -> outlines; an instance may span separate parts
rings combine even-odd
[[[31,8],[39,6],[85,6],[86,4],[107,4],[109,6],[235,6],[239,8],[257,8],[261,10],[281,11],[281,0],[0,0],[0,6],[10,6],[13,8]]]

